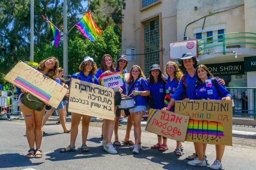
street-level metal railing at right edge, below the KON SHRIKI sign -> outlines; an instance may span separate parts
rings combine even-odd
[[[229,88],[235,106],[233,116],[256,119],[256,88]]]

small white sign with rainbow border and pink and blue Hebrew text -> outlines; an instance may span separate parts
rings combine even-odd
[[[121,88],[125,87],[125,81],[121,71],[108,75],[102,74],[100,76],[100,81],[102,86],[106,88],[115,88],[117,85],[120,85]]]

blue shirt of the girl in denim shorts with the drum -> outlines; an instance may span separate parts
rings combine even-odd
[[[140,85],[139,79],[141,79],[141,85]],[[148,81],[144,77],[137,78],[136,81],[135,81],[134,87],[131,89],[133,84],[134,84],[134,81],[132,81],[131,84],[129,84],[129,92],[130,92],[129,94],[132,94],[132,91],[134,91],[134,90],[136,90],[136,91],[147,91],[147,90],[150,91],[150,88],[148,87]],[[146,101],[145,96],[141,96],[141,95],[134,96],[132,94],[131,97],[135,98],[135,105],[136,106],[146,106],[147,105],[147,101]]]

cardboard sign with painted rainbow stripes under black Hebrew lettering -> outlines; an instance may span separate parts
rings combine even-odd
[[[232,101],[176,101],[175,113],[189,116],[185,141],[232,146]]]

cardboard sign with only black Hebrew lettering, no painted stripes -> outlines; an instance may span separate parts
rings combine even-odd
[[[72,79],[68,111],[114,120],[114,91],[100,85]]]

